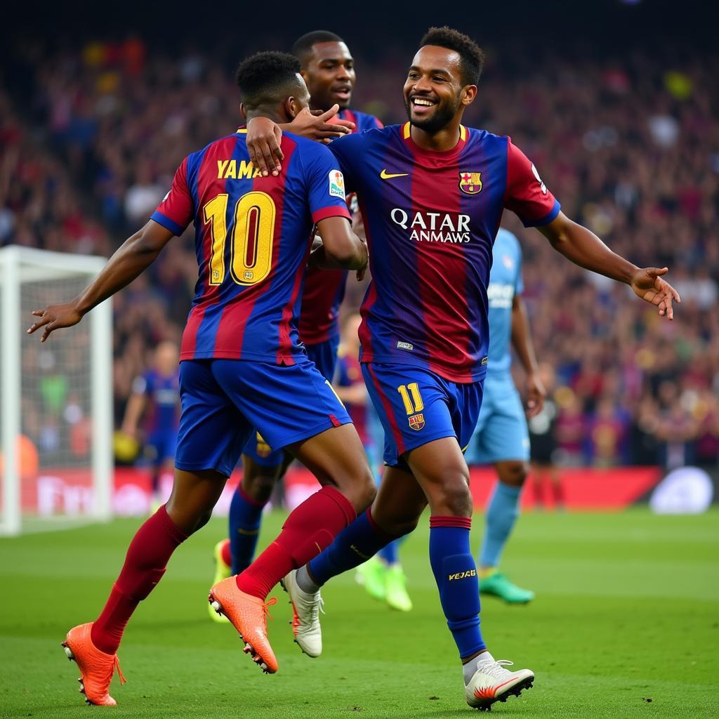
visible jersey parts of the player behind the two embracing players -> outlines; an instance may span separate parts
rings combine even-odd
[[[374,115],[340,110],[340,119],[354,122],[352,132],[384,127]],[[319,344],[339,336],[339,306],[344,299],[347,270],[307,270],[300,311],[300,338],[305,344]]]

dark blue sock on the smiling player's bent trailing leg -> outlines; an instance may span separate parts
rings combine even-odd
[[[383,532],[375,524],[368,509],[345,527],[327,549],[310,560],[310,574],[315,584],[321,587],[331,577],[367,562],[367,559],[374,557],[377,551],[393,539],[396,538]]]

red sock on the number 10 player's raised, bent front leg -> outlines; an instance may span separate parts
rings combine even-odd
[[[280,536],[237,575],[242,592],[265,599],[290,569],[302,567],[354,521],[352,503],[334,487],[322,487],[287,518]]]

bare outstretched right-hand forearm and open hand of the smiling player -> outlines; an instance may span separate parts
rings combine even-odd
[[[667,267],[637,267],[612,252],[599,237],[586,227],[560,212],[549,224],[538,228],[551,246],[567,260],[586,270],[629,285],[643,300],[659,307],[659,315],[674,319],[672,301],[681,302],[679,293],[661,275]]]

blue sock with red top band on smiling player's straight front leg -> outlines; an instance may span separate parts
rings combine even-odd
[[[480,584],[470,549],[471,526],[472,520],[465,517],[429,518],[429,562],[462,659],[487,649],[480,631]]]

